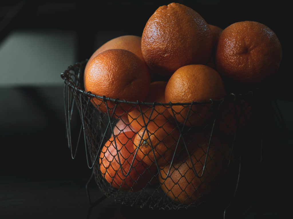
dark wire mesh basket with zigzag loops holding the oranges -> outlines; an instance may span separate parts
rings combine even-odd
[[[115,100],[84,90],[86,62],[61,74],[67,137],[74,158],[71,119],[77,107],[76,145],[83,135],[88,167],[105,196],[127,206],[164,210],[228,205],[239,180],[241,143],[258,117],[258,91],[207,102]],[[125,105],[127,110],[115,113]]]

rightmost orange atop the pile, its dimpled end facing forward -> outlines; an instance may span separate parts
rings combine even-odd
[[[257,84],[274,76],[281,59],[282,47],[276,34],[255,21],[226,27],[215,53],[219,74],[243,84]]]

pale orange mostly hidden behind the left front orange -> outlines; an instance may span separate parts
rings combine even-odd
[[[120,36],[112,40],[109,40],[108,42],[104,43],[101,47],[99,47],[91,55],[91,57],[88,59],[84,72],[86,73],[88,66],[90,65],[91,60],[93,60],[93,58],[95,58],[98,54],[108,49],[126,49],[136,54],[144,62],[144,64],[147,65],[144,61],[144,57],[142,56],[141,42],[142,42],[142,37],[135,36],[135,35],[125,35],[125,36]],[[151,76],[154,77],[154,73],[150,71],[150,69],[149,69],[149,72]],[[85,78],[85,75],[86,74],[84,74],[84,78]]]

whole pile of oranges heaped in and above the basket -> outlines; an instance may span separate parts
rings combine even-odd
[[[225,97],[231,87],[269,80],[281,59],[280,42],[264,24],[242,21],[221,29],[185,5],[159,7],[142,36],[112,39],[86,64],[87,92],[125,100],[91,99],[118,121],[98,155],[101,174],[116,189],[159,185],[179,203],[205,200],[233,153],[203,127],[210,128],[217,111],[219,133],[231,136],[236,120],[242,129],[251,117],[247,102],[223,102],[221,110],[210,100]]]

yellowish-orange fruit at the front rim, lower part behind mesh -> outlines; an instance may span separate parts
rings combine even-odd
[[[225,96],[224,83],[221,76],[206,65],[187,65],[173,73],[169,79],[165,100],[172,103],[205,102],[218,100]],[[190,112],[188,113],[190,109]],[[202,126],[213,116],[211,104],[173,105],[168,108],[170,114],[175,113],[178,122],[187,126]]]

